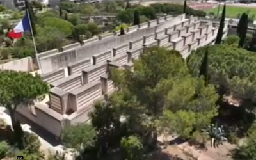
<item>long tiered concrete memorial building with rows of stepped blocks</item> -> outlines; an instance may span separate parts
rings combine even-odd
[[[225,24],[223,38],[227,36]],[[168,15],[132,26],[125,35],[100,35],[83,44],[70,44],[38,55],[42,79],[51,87],[44,101],[17,111],[60,136],[63,122],[75,124],[89,120],[95,100],[113,92],[108,77],[109,67],[132,68],[132,59],[143,54],[143,49],[154,45],[180,51],[187,58],[191,51],[212,44],[218,24],[201,22],[196,17]]]

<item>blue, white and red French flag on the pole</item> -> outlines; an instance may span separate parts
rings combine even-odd
[[[13,28],[10,33],[8,33],[8,36],[13,39],[21,38],[24,32],[31,33],[31,25],[30,25],[30,19],[28,11],[26,12],[23,19]]]

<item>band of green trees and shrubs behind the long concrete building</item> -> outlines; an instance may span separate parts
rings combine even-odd
[[[51,49],[60,49],[63,45],[74,42],[82,43],[83,40],[92,38],[105,31],[115,30],[116,26],[121,24],[139,24],[148,20],[156,19],[157,14],[174,14],[183,13],[183,6],[179,4],[152,4],[152,6],[141,6],[140,4],[132,5],[127,3],[129,7],[125,8],[124,1],[106,1],[100,4],[76,4],[63,1],[58,9],[42,10],[42,5],[38,2],[29,3],[26,1],[29,18],[35,36],[37,52],[45,52]],[[2,8],[4,11],[5,8]],[[205,12],[193,10],[186,6],[188,15],[204,17]],[[81,16],[90,15],[116,15],[115,22],[108,20],[104,26],[95,24],[81,19]],[[13,17],[20,19],[24,16],[24,12],[15,12]],[[6,33],[12,29],[12,25],[8,19],[2,19],[2,29],[0,36],[6,36]],[[120,28],[119,28],[120,29]],[[8,34],[7,34],[8,35]],[[0,47],[8,47],[10,56],[2,58],[24,58],[27,56],[35,56],[35,49],[31,35],[25,35],[19,40],[5,39],[1,41],[3,45]]]

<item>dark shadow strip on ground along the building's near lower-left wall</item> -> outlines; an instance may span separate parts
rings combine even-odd
[[[4,110],[4,113],[9,115],[9,112],[7,110]],[[22,125],[24,125],[24,124],[29,125],[29,127],[30,127],[29,129],[32,132],[34,132],[35,134],[40,136],[40,138],[42,138],[45,141],[47,141],[47,143],[51,144],[52,147],[56,147],[58,145],[62,145],[59,138],[57,138],[56,136],[54,136],[50,132],[46,131],[44,128],[40,127],[38,124],[35,124],[34,122],[29,120],[25,116],[20,115],[19,113],[17,113],[17,116],[18,116],[18,118],[19,118],[19,120],[20,120]]]

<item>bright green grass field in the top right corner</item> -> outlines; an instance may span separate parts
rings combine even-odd
[[[223,6],[220,7],[220,15],[223,10]],[[213,12],[214,15],[217,15],[218,13],[218,6],[215,8],[211,8],[207,10],[207,12]],[[226,17],[227,18],[237,18],[237,15],[240,13],[249,12],[249,15],[255,15],[256,16],[256,8],[250,8],[250,7],[241,7],[241,6],[226,6]],[[256,17],[255,17],[256,18]]]

